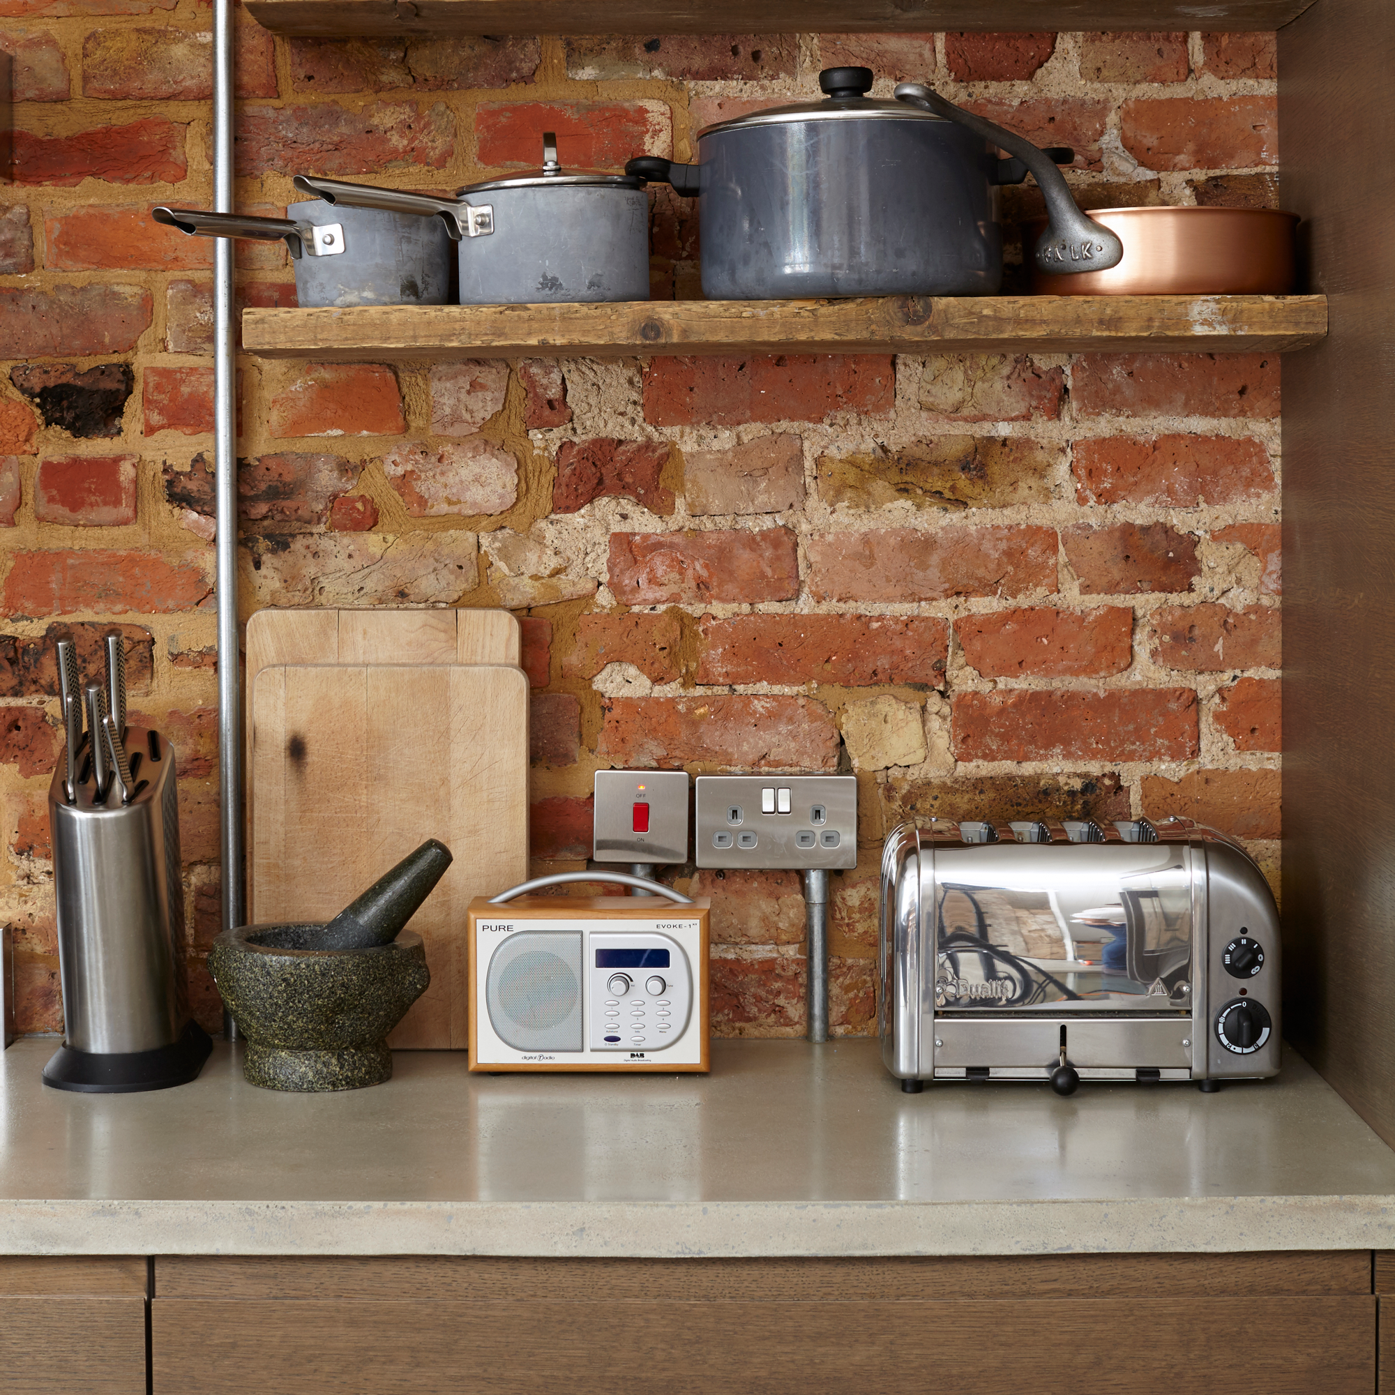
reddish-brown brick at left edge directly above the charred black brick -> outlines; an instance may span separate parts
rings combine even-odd
[[[151,310],[140,286],[0,286],[0,359],[124,353],[149,328]]]

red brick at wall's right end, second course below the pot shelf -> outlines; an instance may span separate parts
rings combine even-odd
[[[1103,437],[1077,441],[1071,460],[1080,504],[1196,508],[1235,504],[1275,488],[1269,452],[1254,437]]]

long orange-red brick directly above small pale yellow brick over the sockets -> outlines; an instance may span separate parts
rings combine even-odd
[[[928,684],[942,686],[949,622],[939,617],[702,618],[700,684]]]

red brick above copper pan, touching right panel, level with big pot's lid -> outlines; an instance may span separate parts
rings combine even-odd
[[[1119,113],[1124,149],[1149,170],[1278,165],[1278,98],[1136,98]]]

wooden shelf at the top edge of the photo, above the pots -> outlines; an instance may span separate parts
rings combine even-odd
[[[248,0],[276,33],[1278,29],[1313,0]],[[1204,14],[1204,18],[1202,18]]]

